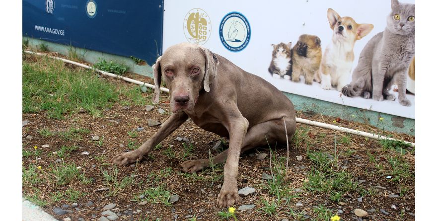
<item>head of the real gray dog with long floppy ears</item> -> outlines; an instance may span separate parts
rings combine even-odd
[[[170,90],[171,109],[193,110],[199,92],[210,91],[210,84],[217,75],[217,57],[208,49],[189,43],[169,47],[153,65],[155,96],[159,102],[159,86],[163,79]]]

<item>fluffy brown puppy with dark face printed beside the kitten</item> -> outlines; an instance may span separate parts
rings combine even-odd
[[[306,84],[312,84],[315,73],[321,64],[321,39],[314,35],[301,35],[292,49],[292,80],[299,81],[302,74]]]

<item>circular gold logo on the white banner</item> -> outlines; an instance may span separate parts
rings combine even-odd
[[[211,36],[211,20],[206,11],[193,8],[183,21],[183,33],[192,44],[203,45]]]

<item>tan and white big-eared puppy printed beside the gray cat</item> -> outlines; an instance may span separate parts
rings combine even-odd
[[[333,37],[325,49],[319,68],[321,87],[329,90],[333,85],[341,91],[343,86],[350,83],[356,41],[366,36],[374,26],[358,24],[351,17],[341,17],[331,8],[327,10],[327,18],[333,30]]]

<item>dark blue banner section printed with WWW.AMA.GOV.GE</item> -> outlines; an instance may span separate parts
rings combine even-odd
[[[23,36],[154,64],[163,0],[23,0]]]

